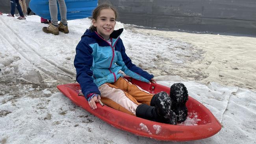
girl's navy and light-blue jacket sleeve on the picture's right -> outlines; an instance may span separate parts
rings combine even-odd
[[[152,78],[154,78],[152,74],[148,74],[148,72],[142,70],[141,68],[139,68],[138,66],[132,63],[132,60],[130,59],[130,57],[128,57],[125,53],[125,48],[124,48],[124,44],[122,43],[122,40],[119,39],[119,41],[121,41],[121,44],[120,44],[121,55],[119,55],[117,65],[122,66],[122,71],[128,76],[131,76],[132,78],[138,79],[140,81],[148,82]]]

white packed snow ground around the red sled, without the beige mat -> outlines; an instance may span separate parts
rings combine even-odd
[[[116,129],[77,107],[56,89],[56,85],[75,82],[75,47],[90,26],[90,19],[71,20],[70,33],[52,35],[42,31],[47,25],[40,23],[40,17],[26,18],[0,15],[1,144],[173,143]],[[256,143],[256,92],[215,81],[198,83],[195,79],[207,78],[207,74],[197,68],[194,80],[181,79],[179,76],[185,75],[179,72],[203,59],[204,49],[155,31],[138,33],[129,26],[117,22],[116,29],[125,27],[121,38],[133,63],[157,76],[160,84],[170,86],[182,81],[189,95],[208,107],[222,124],[213,137],[181,143]]]

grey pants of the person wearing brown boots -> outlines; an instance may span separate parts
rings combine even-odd
[[[65,4],[65,0],[58,0],[59,3],[59,12],[61,17],[61,23],[66,25],[67,24],[67,7]],[[50,15],[52,19],[52,24],[58,26],[58,7],[57,7],[57,0],[49,0],[49,8],[50,8]]]

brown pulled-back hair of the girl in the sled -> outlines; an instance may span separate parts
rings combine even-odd
[[[101,4],[99,6],[97,6],[94,10],[93,10],[93,19],[97,20],[97,18],[100,16],[100,11],[102,9],[112,9],[115,13],[115,19],[117,19],[117,10],[115,9],[115,7],[113,7],[111,4],[109,3],[104,3],[104,4]],[[89,30],[91,31],[97,31],[97,28],[93,25],[90,26]]]

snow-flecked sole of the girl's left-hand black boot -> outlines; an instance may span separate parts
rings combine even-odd
[[[163,121],[176,125],[176,114],[171,110],[171,104],[171,98],[166,92],[155,94],[150,102],[150,105],[156,107],[158,113],[163,116]]]

